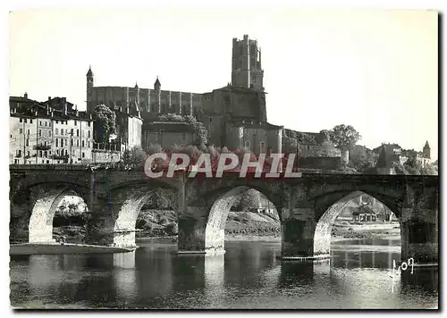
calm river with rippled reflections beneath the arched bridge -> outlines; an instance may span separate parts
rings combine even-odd
[[[115,255],[11,256],[16,308],[434,308],[437,268],[394,276],[399,240],[333,242],[331,261],[277,259],[281,244],[229,241],[220,256],[177,255],[177,245],[139,241]]]

